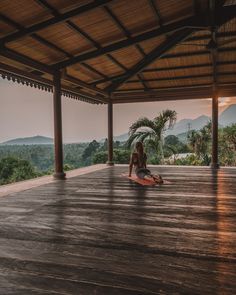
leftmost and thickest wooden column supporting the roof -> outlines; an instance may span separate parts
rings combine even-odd
[[[61,73],[60,71],[56,71],[53,76],[53,110],[54,110],[54,150],[55,150],[55,173],[53,176],[56,179],[65,179],[65,173],[63,171]]]

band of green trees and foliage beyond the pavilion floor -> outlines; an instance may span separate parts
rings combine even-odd
[[[169,127],[169,121],[163,119],[163,113],[153,121],[139,119],[131,127],[129,140],[145,141],[148,164],[165,163],[175,165],[209,165],[211,162],[211,123],[201,130],[193,130],[188,135],[188,145],[174,135],[163,138],[163,132]],[[165,124],[163,123],[165,122]],[[173,124],[174,120],[171,121]],[[145,128],[140,128],[144,126]],[[161,126],[161,128],[160,128]],[[163,127],[164,126],[164,127]],[[151,129],[155,128],[154,129]],[[160,129],[159,129],[160,128]],[[131,141],[132,142],[132,141]],[[114,162],[128,164],[131,150],[117,141],[114,146]],[[107,140],[98,143],[65,144],[64,170],[72,170],[91,164],[107,162]],[[162,152],[161,152],[162,149]],[[180,153],[189,153],[179,158]],[[168,160],[174,155],[172,160]],[[219,129],[219,162],[221,166],[236,166],[236,124]],[[52,145],[12,145],[0,146],[0,185],[15,181],[52,174],[54,171],[54,148]]]

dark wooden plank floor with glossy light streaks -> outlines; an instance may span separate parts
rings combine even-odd
[[[236,169],[112,167],[0,199],[0,294],[236,294]]]

